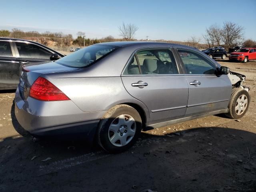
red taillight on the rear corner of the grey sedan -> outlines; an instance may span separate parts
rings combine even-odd
[[[38,77],[30,88],[29,96],[41,101],[70,100],[54,84],[43,77]]]

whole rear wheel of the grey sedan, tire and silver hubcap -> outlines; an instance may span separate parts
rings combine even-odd
[[[123,152],[133,146],[140,135],[142,120],[131,106],[116,105],[100,120],[98,143],[111,153]]]

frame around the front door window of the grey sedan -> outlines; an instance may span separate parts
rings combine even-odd
[[[196,52],[198,54],[200,54],[201,56],[203,56],[204,58],[206,58],[206,60],[208,60],[210,63],[212,63],[215,67],[216,67],[216,70],[218,71],[220,69],[220,66],[218,66],[216,63],[212,62],[208,56],[206,54],[202,54],[201,52],[198,52],[198,51],[195,51],[195,50],[192,50],[192,49],[188,49],[188,48],[182,48],[182,47],[175,47],[174,48],[176,50],[176,54],[178,54],[178,58],[179,58],[179,61],[180,61],[180,65],[182,66],[182,70],[184,70],[184,74],[186,76],[219,76],[218,74],[189,74],[187,72],[187,69],[183,63],[183,60],[182,58],[180,57],[180,54],[178,52],[178,49],[183,49],[183,50],[188,50],[188,51],[192,51],[192,52]]]

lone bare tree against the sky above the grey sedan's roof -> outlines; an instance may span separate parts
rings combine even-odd
[[[123,24],[118,27],[118,30],[120,32],[120,36],[122,36],[126,41],[130,41],[134,38],[135,32],[138,31],[138,26],[135,24]]]

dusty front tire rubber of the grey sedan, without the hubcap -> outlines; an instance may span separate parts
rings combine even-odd
[[[247,104],[245,110],[242,112],[242,114],[237,114],[235,108],[236,108],[236,102],[238,101],[238,98],[240,98],[242,95],[245,95],[247,97]],[[232,119],[240,119],[242,116],[244,116],[248,110],[250,104],[250,95],[246,90],[243,90],[241,88],[233,88],[232,94],[230,97],[230,102],[228,104],[229,112],[226,113],[226,116]]]

